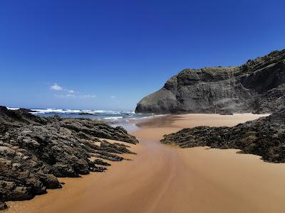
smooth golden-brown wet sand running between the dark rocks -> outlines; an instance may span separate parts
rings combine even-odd
[[[264,163],[237,150],[177,148],[159,142],[165,133],[200,125],[233,126],[258,115],[187,114],[140,122],[140,141],[105,173],[61,178],[61,190],[6,212],[282,212],[285,164]]]

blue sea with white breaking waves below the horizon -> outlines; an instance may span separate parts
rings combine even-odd
[[[19,109],[19,108],[9,108]],[[38,116],[58,115],[62,118],[88,118],[98,121],[106,121],[111,126],[123,126],[127,131],[135,131],[138,127],[136,120],[148,119],[155,114],[136,114],[135,111],[112,111],[112,110],[92,110],[92,109],[31,109]]]

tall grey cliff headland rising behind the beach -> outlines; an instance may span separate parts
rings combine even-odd
[[[285,104],[285,50],[239,67],[182,70],[138,102],[137,113],[274,112]]]

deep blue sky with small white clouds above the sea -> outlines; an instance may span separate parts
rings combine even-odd
[[[0,104],[135,109],[184,68],[285,48],[285,1],[0,1]]]

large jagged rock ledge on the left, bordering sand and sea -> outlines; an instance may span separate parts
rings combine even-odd
[[[99,158],[119,161],[124,158],[118,154],[132,153],[123,143],[102,138],[138,143],[122,127],[101,121],[43,118],[0,107],[0,209],[7,207],[5,201],[61,188],[59,177],[104,171],[110,164]]]

